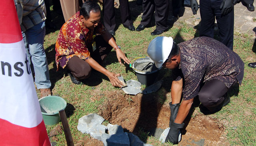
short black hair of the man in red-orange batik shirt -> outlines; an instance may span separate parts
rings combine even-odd
[[[99,12],[100,6],[96,2],[88,0],[82,5],[80,9],[80,15],[84,16],[84,18],[87,20],[88,18],[90,18],[91,11],[94,13]]]

